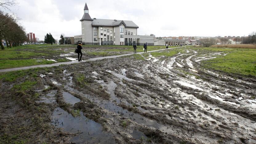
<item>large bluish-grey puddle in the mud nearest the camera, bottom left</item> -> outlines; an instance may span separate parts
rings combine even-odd
[[[71,139],[75,143],[116,143],[111,133],[104,132],[101,124],[86,118],[82,113],[74,118],[61,108],[56,108],[52,115],[52,125],[77,134]]]

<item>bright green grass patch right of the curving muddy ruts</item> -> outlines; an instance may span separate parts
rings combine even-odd
[[[229,53],[226,56],[202,61],[203,65],[206,68],[227,73],[256,76],[256,50],[232,49],[228,51]]]

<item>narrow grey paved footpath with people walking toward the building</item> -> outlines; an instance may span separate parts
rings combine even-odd
[[[179,47],[174,47],[174,48],[179,48]],[[173,48],[169,48],[169,49],[173,49]],[[166,49],[161,49],[161,50],[166,50]],[[147,53],[155,52],[155,51],[160,51],[160,50],[152,50],[152,51],[148,51]],[[143,53],[144,52],[138,52],[137,54],[143,54]],[[105,58],[118,58],[118,57],[123,57],[123,56],[128,56],[128,55],[133,55],[133,53],[121,54],[121,55],[113,55],[113,56],[107,56],[107,57],[90,58],[90,59],[83,60],[82,62],[96,61],[96,60],[101,60],[101,59],[105,59]],[[34,69],[34,68],[40,68],[40,67],[52,67],[52,66],[59,66],[59,65],[70,65],[70,64],[74,64],[74,63],[80,63],[80,62],[78,62],[78,61],[58,62],[58,63],[48,64],[48,65],[35,65],[35,66],[15,67],[15,68],[10,68],[10,69],[2,69],[2,70],[0,70],[0,72],[9,72],[9,71],[16,71],[16,70],[27,70],[27,69]]]

